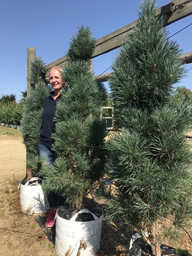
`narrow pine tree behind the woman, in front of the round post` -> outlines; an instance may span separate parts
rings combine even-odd
[[[21,132],[27,153],[27,178],[39,175],[39,137],[42,111],[45,98],[52,90],[44,83],[41,71],[45,65],[41,57],[31,63],[30,96],[25,99],[24,114],[21,120]]]

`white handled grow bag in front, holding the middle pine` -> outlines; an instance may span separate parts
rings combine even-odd
[[[77,215],[82,212],[91,213],[94,220],[75,221]],[[66,252],[76,256],[82,241],[87,244],[87,248],[81,249],[81,256],[96,255],[100,248],[103,214],[98,218],[88,209],[82,209],[70,220],[61,218],[58,213],[55,216],[55,253],[58,256],[65,256]]]

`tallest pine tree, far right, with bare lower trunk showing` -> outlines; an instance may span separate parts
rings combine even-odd
[[[146,241],[160,255],[158,221],[168,217],[184,225],[192,216],[192,155],[186,139],[192,112],[189,100],[171,100],[173,84],[186,69],[179,45],[168,38],[165,17],[157,18],[155,8],[153,0],[140,4],[137,26],[112,63],[109,84],[121,132],[107,145],[107,173],[114,186],[102,185],[101,191],[108,218],[136,228],[145,239],[147,228]]]

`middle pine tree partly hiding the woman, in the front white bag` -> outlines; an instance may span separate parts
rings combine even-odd
[[[68,197],[74,207],[83,207],[84,197],[102,178],[105,164],[106,127],[100,115],[107,92],[93,78],[90,68],[94,46],[89,27],[79,27],[70,40],[62,74],[68,89],[61,92],[57,103],[56,131],[52,135],[52,148],[58,157],[52,166],[41,170],[45,191]]]

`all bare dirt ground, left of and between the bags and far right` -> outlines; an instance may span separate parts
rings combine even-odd
[[[16,181],[21,181],[26,175],[26,149],[19,131],[15,135],[7,135],[0,127],[0,152],[0,255],[56,255],[53,244],[34,216],[20,212]],[[187,231],[192,236],[192,229]],[[103,221],[98,256],[125,256],[129,243],[130,234],[125,227]],[[172,245],[168,241],[164,243]],[[181,236],[177,247],[192,254],[192,243],[186,233]]]

